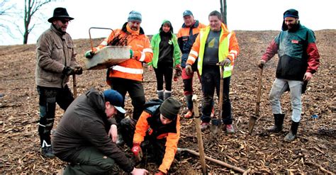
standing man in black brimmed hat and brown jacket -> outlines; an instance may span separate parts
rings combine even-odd
[[[67,86],[69,76],[82,74],[82,67],[76,62],[76,52],[72,38],[66,32],[70,17],[64,8],[56,8],[47,21],[49,29],[40,35],[36,43],[35,81],[40,96],[40,135],[41,153],[53,158],[50,131],[54,124],[56,103],[66,110],[74,97]]]

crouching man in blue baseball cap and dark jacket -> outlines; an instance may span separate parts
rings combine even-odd
[[[130,174],[147,174],[147,170],[135,168],[116,145],[114,115],[125,113],[122,104],[118,91],[101,93],[93,88],[71,103],[52,140],[55,155],[70,162],[64,174],[118,173],[112,172],[115,164]]]

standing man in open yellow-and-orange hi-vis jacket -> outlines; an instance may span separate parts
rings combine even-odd
[[[197,62],[203,91],[202,123],[201,129],[208,128],[211,120],[211,108],[213,106],[213,94],[219,96],[220,79],[223,79],[223,114],[221,116],[224,130],[233,133],[233,118],[231,102],[229,98],[230,77],[233,65],[239,52],[239,46],[235,33],[229,31],[222,23],[222,15],[218,11],[212,11],[209,16],[209,26],[201,29],[196,41],[191,48],[186,61],[186,73],[192,74],[191,65]],[[220,67],[224,67],[223,77],[220,77]]]

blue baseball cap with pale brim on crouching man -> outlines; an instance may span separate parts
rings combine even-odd
[[[121,96],[118,91],[108,89],[106,91],[103,91],[103,96],[105,98],[105,101],[110,102],[111,105],[113,105],[114,108],[116,108],[119,112],[126,113],[125,109],[121,107],[123,105],[123,96]]]

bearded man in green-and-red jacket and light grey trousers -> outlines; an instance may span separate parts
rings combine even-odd
[[[271,41],[258,66],[264,67],[276,53],[279,55],[279,62],[276,67],[276,79],[269,94],[274,126],[269,128],[269,132],[281,132],[285,114],[281,111],[280,97],[290,90],[293,108],[291,130],[284,140],[291,142],[296,138],[301,120],[301,95],[320,65],[314,32],[301,25],[298,21],[298,11],[295,9],[284,12],[282,31]]]

